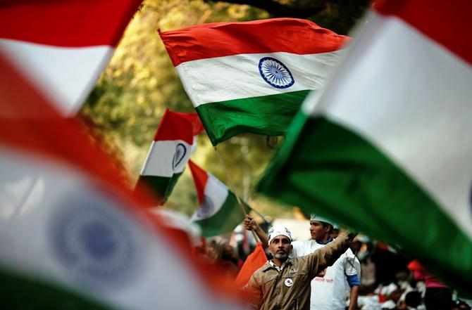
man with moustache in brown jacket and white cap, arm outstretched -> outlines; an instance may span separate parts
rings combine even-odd
[[[248,283],[252,309],[309,310],[311,279],[331,266],[352,243],[347,232],[332,243],[306,255],[290,258],[292,235],[283,226],[274,226],[268,234],[268,250],[273,259],[256,270]]]

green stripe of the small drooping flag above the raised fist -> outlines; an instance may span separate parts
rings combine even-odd
[[[245,202],[244,209],[246,213],[249,213],[251,207]],[[207,219],[200,219],[195,221],[201,227],[201,235],[204,237],[211,237],[213,235],[223,235],[224,233],[230,233],[237,225],[242,223],[244,215],[242,209],[237,203],[235,194],[228,192],[228,197],[221,206],[221,209],[216,212],[213,217]]]

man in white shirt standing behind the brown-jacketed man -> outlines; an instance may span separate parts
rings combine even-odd
[[[254,229],[259,235],[263,246],[267,246],[267,236],[251,218],[244,219],[244,227]],[[315,250],[324,247],[333,241],[330,233],[333,224],[327,219],[310,218],[311,240],[298,240],[292,242],[293,250],[290,257],[301,257],[311,254]],[[333,266],[325,269],[316,278],[311,280],[311,310],[344,310],[346,309],[346,297],[349,293],[349,310],[356,309],[357,296],[359,295],[361,264],[351,249],[341,255]]]

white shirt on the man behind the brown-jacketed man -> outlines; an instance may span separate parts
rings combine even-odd
[[[299,240],[292,242],[293,250],[290,257],[308,255],[325,245],[316,240]],[[328,267],[323,278],[316,277],[311,280],[311,310],[344,310],[346,309],[346,297],[349,294],[347,276],[357,274],[360,279],[361,264],[351,249],[347,249],[333,266]]]

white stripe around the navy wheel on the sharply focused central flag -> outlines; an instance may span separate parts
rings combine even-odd
[[[188,61],[175,67],[175,70],[196,108],[218,101],[321,89],[342,51],[311,55],[240,54]],[[294,84],[286,89],[278,89],[264,81],[259,73],[259,60],[263,57],[280,60],[292,73]]]

